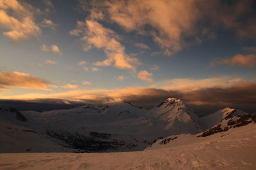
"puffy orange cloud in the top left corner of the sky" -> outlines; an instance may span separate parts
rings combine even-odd
[[[29,39],[41,34],[41,29],[35,24],[33,8],[17,0],[0,1],[0,27],[7,30],[4,36],[13,41]]]

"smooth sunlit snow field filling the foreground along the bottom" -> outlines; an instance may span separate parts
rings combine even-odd
[[[2,153],[0,169],[255,169],[256,125],[231,130],[142,152]]]

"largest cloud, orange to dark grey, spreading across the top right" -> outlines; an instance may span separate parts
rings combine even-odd
[[[220,28],[235,32],[239,38],[255,39],[252,4],[252,0],[80,1],[81,8],[92,14],[91,20],[110,20],[127,32],[152,36],[162,49],[161,55],[168,56],[205,39],[215,39]]]

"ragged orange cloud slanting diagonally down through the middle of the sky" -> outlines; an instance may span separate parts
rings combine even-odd
[[[115,66],[118,69],[132,69],[135,71],[135,65],[140,64],[138,59],[130,57],[125,53],[125,47],[117,41],[118,36],[114,31],[103,27],[95,20],[86,20],[86,22],[77,21],[77,27],[70,31],[71,35],[79,36],[82,34],[84,50],[90,50],[93,46],[101,48],[107,55],[107,59],[93,63],[95,66]]]

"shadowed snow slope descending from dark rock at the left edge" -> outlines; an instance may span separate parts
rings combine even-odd
[[[17,110],[1,108],[0,115],[0,153],[74,152],[58,145],[60,141],[24,126],[28,120]]]

